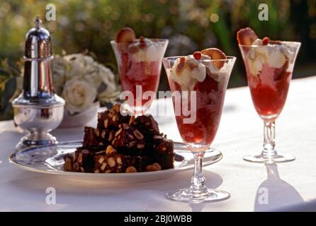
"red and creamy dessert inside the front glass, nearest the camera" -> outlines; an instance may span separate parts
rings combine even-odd
[[[208,146],[218,131],[225,90],[232,69],[230,62],[225,61],[225,55],[222,58],[222,64],[217,65],[218,62],[210,61],[212,57],[206,54],[201,54],[198,59],[189,55],[176,59],[167,70],[171,91],[181,93],[182,107],[189,109],[191,101],[196,101],[196,109],[190,109],[191,114],[196,114],[193,123],[184,123],[188,116],[183,109],[181,114],[176,114],[179,132],[186,143]],[[188,95],[182,91],[188,91]],[[196,100],[190,98],[193,91],[196,92]]]

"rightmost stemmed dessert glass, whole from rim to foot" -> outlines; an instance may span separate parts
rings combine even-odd
[[[265,39],[256,40],[252,45],[239,44],[252,102],[259,117],[264,121],[264,150],[260,155],[244,156],[244,160],[288,162],[295,160],[295,157],[274,149],[275,121],[286,103],[300,42],[276,42]]]

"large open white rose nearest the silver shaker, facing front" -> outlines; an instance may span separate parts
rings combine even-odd
[[[83,112],[96,100],[96,88],[86,81],[72,79],[64,84],[62,97],[70,114]]]

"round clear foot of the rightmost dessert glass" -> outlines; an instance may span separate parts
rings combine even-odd
[[[260,162],[260,163],[273,163],[273,162],[290,162],[295,160],[295,156],[290,154],[276,153],[271,157],[266,157],[264,155],[246,155],[244,160],[248,162]]]

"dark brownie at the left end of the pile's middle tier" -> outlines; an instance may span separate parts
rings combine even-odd
[[[84,127],[84,142],[83,146],[89,147],[105,147],[113,141],[114,131],[94,129],[92,127]]]

